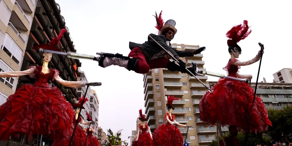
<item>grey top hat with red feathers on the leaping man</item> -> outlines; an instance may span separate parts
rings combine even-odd
[[[178,31],[175,28],[175,21],[174,20],[167,20],[165,23],[161,17],[162,15],[162,11],[160,12],[159,16],[157,16],[157,13],[155,12],[156,16],[154,16],[156,18],[156,26],[155,28],[158,29],[158,34],[161,34],[161,32],[164,32],[166,30],[172,30],[174,34],[176,34],[176,32]]]

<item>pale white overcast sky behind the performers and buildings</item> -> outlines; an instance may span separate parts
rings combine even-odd
[[[206,46],[202,52],[204,67],[210,72],[224,73],[228,53],[226,32],[243,20],[252,25],[251,34],[239,42],[240,61],[247,61],[265,46],[259,81],[263,77],[272,82],[272,74],[282,68],[291,68],[292,2],[291,1],[137,1],[137,0],[55,0],[61,7],[66,26],[78,53],[130,52],[129,41],[142,44],[150,33],[156,33],[155,15],[163,10],[164,21],[173,19],[178,29],[171,43]],[[81,60],[81,70],[90,82],[102,82],[91,87],[97,92],[99,126],[120,129],[122,139],[131,136],[136,128],[138,110],[144,107],[143,75],[124,68],[102,68],[98,62]],[[252,74],[256,81],[259,62],[242,66],[241,74]],[[218,78],[208,77],[208,81]]]

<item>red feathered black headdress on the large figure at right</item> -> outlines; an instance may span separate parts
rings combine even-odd
[[[229,38],[227,40],[228,46],[237,46],[237,43],[245,39],[251,33],[247,25],[247,20],[243,20],[243,24],[232,27],[227,33],[226,36]]]

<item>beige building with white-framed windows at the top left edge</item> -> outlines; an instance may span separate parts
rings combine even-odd
[[[0,71],[20,71],[36,0],[0,0]],[[0,105],[13,94],[18,77],[0,78]]]

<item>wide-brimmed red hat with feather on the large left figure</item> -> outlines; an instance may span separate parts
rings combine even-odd
[[[52,50],[52,51],[61,51],[57,48],[57,45],[59,44],[59,41],[61,39],[61,37],[63,36],[63,34],[66,32],[66,29],[62,29],[60,34],[58,35],[57,38],[53,38],[52,40],[49,42],[49,44],[40,44],[37,46],[32,47],[32,49],[37,50],[38,48],[43,48],[46,50]]]

